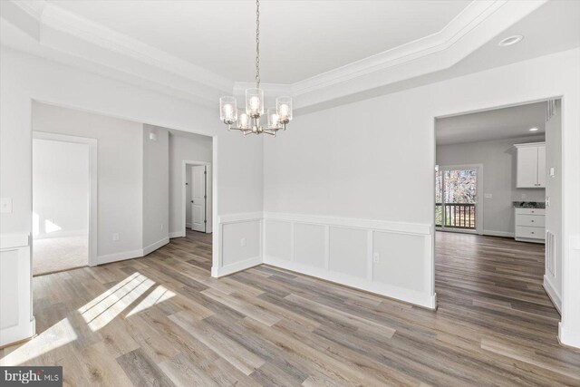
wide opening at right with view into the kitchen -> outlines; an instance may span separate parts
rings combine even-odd
[[[541,315],[551,300],[549,313],[559,317],[561,109],[555,98],[435,118],[438,294],[469,278],[480,299],[519,288],[529,313]],[[531,290],[542,287],[545,293]]]

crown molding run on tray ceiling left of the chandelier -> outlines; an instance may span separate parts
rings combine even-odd
[[[28,17],[26,17],[28,16]],[[46,1],[2,1],[2,18],[44,48],[94,63],[99,73],[139,79],[142,85],[215,105],[234,82]],[[34,23],[33,23],[34,21]],[[36,24],[36,25],[34,25]],[[90,66],[94,67],[94,66]],[[92,68],[94,71],[94,68]]]

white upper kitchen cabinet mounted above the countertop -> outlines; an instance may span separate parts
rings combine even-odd
[[[546,142],[515,144],[518,189],[546,188]]]

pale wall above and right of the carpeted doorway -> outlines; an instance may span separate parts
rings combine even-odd
[[[32,102],[34,131],[97,139],[97,261],[143,243],[143,128],[138,122]],[[119,240],[112,235],[119,234]]]

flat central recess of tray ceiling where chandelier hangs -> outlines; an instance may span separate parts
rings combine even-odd
[[[253,0],[49,3],[227,79],[254,79]],[[262,81],[298,82],[435,34],[469,3],[262,1]]]

